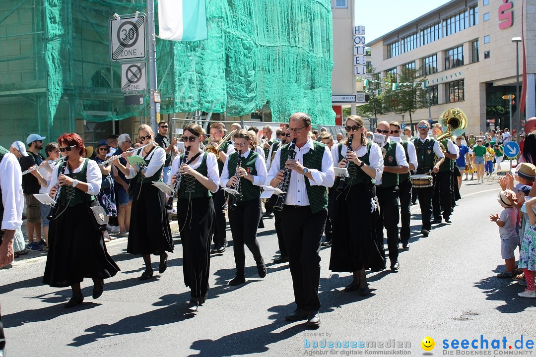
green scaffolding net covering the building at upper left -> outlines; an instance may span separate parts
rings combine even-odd
[[[157,38],[162,113],[243,116],[268,105],[273,121],[304,111],[333,124],[329,0],[206,0],[206,9],[208,40]],[[147,93],[146,104],[125,105],[121,64],[109,59],[109,18],[136,11],[146,1],[3,0],[1,144],[146,117]],[[158,33],[157,1],[155,11]]]

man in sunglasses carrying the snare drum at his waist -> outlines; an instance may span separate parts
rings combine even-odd
[[[440,165],[445,160],[445,155],[441,151],[439,142],[428,136],[428,121],[419,121],[419,136],[413,140],[415,145],[415,151],[417,153],[418,168],[417,174],[430,174],[439,172]],[[439,159],[435,163],[435,156]],[[419,198],[419,206],[421,208],[422,229],[423,236],[428,237],[432,227],[430,218],[432,215],[432,197],[434,196],[434,185],[432,187],[419,187],[417,189],[417,196]]]

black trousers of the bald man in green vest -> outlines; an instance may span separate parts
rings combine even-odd
[[[398,259],[398,189],[393,187],[376,187],[376,196],[379,202],[379,219],[376,222],[376,237],[383,246],[383,227],[387,231],[387,247],[389,259],[395,262]],[[384,253],[385,254],[385,253]]]

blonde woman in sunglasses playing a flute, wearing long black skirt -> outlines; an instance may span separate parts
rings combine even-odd
[[[154,133],[150,126],[140,125],[138,135],[143,145],[154,143]],[[119,158],[114,161],[114,165],[125,174],[126,178],[132,179],[133,199],[126,251],[143,256],[145,271],[139,280],[146,280],[153,276],[151,254],[160,256],[158,271],[162,274],[167,269],[166,252],[173,252],[173,240],[167,210],[164,207],[166,195],[152,184],[153,181],[162,181],[166,150],[154,143],[154,145],[121,154],[122,157],[132,155],[143,157],[145,165],[127,164],[128,166],[124,166]]]

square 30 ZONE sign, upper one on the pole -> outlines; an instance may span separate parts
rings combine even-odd
[[[147,56],[145,14],[110,19],[110,59],[123,61]]]

